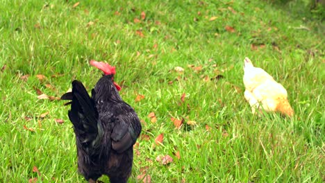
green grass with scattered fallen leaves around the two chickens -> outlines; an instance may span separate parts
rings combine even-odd
[[[101,77],[89,66],[91,59],[117,67],[115,80],[124,82],[121,96],[144,121],[142,134],[150,137],[138,140],[130,182],[142,182],[137,177],[146,166],[152,182],[325,180],[322,21],[310,19],[306,11],[294,14],[287,11],[290,6],[256,0],[81,1],[73,8],[74,3],[1,2],[0,69],[6,68],[0,71],[0,182],[84,180],[76,171],[69,107],[39,100],[35,88],[61,96],[78,79],[91,89]],[[94,24],[87,26],[90,21]],[[252,44],[264,47],[255,50]],[[251,114],[243,96],[245,56],[287,88],[292,119]],[[37,74],[47,78],[40,81]],[[218,74],[224,78],[203,80]],[[138,94],[144,99],[135,102]],[[44,112],[49,114],[40,118]],[[156,123],[147,116],[150,112],[156,113]],[[171,117],[197,125],[176,129]],[[155,146],[160,133],[163,145]],[[161,165],[158,155],[174,162]],[[108,182],[107,177],[101,180]]]

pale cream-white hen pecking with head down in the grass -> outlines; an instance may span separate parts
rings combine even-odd
[[[256,110],[266,112],[281,112],[292,116],[294,113],[288,102],[287,90],[274,80],[263,69],[254,67],[249,58],[244,60],[244,97],[251,105],[253,113]]]

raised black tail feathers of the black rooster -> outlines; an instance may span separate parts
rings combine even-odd
[[[92,92],[94,95],[94,92]],[[94,98],[94,96],[92,96]],[[65,104],[71,104],[69,119],[74,125],[78,148],[83,148],[88,155],[96,155],[99,152],[103,128],[98,119],[98,112],[94,100],[90,98],[83,83],[74,80],[72,82],[72,92],[61,96],[63,100],[72,100]]]

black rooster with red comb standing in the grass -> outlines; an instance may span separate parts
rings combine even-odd
[[[78,80],[72,82],[72,92],[61,96],[71,100],[67,104],[71,104],[68,114],[76,134],[78,171],[88,182],[96,182],[101,175],[108,175],[110,182],[127,182],[141,124],[119,96],[120,87],[113,80],[115,67],[94,60],[90,64],[104,72],[92,97]]]

